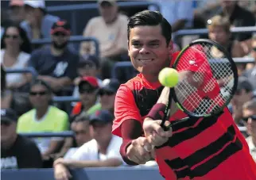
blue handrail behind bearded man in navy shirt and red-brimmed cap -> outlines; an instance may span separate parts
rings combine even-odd
[[[95,43],[95,54],[99,56],[99,40],[91,36],[70,36],[69,42],[93,41]],[[32,40],[32,44],[51,44],[51,38]]]

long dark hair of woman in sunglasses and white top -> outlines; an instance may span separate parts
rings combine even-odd
[[[22,40],[22,44],[20,46],[21,52],[26,52],[26,53],[30,54],[32,52],[32,46],[31,46],[30,40],[29,40],[27,34],[25,33],[25,30],[21,29],[20,25],[14,23],[14,22],[10,23],[10,25],[6,26],[5,32],[3,33],[2,39],[1,39],[1,48],[6,48],[4,39],[6,37],[7,29],[9,29],[11,27],[16,28],[19,32],[19,35],[21,36],[21,40]]]

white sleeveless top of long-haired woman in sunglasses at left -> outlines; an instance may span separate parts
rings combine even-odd
[[[0,52],[0,63],[3,62],[3,56],[5,55],[5,49],[1,49]],[[5,67],[4,64],[3,67],[6,70],[15,70],[15,69],[22,69],[25,67],[25,64],[29,61],[30,55],[25,52],[20,52],[20,54],[17,56],[17,61],[14,63],[12,67]],[[22,74],[21,73],[9,73],[6,75],[6,83],[7,86],[10,86],[11,84],[22,82]]]

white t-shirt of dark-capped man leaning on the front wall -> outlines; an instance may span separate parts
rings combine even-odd
[[[111,158],[117,158],[122,161],[119,149],[122,144],[122,139],[118,136],[112,136],[111,142],[107,147],[107,154],[103,155],[99,153],[98,144],[96,140],[90,140],[83,144],[76,150],[75,154],[70,159],[74,160],[106,160]],[[122,161],[123,163],[123,161]]]

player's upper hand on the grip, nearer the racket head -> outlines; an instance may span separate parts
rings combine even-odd
[[[152,120],[149,117],[145,118],[143,122],[143,130],[145,137],[149,140],[149,144],[153,146],[161,146],[169,140],[169,137],[173,135],[172,128],[165,131],[161,128],[161,120]],[[165,126],[169,125],[169,121],[165,121]]]

